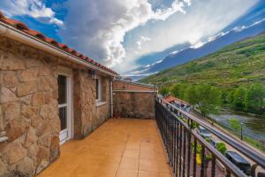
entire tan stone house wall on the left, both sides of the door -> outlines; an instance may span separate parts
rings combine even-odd
[[[110,94],[107,104],[95,106],[86,68],[1,36],[0,136],[9,139],[0,142],[0,177],[34,176],[58,158],[58,65],[73,70],[74,136],[85,137],[110,117]]]

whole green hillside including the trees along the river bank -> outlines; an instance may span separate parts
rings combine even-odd
[[[233,43],[141,82],[157,85],[161,94],[170,92],[190,102],[203,115],[222,106],[264,114],[265,34]]]

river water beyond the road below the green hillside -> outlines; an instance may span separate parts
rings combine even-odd
[[[212,119],[225,127],[230,127],[229,119],[239,119],[243,123],[243,135],[254,140],[265,142],[265,118],[257,118],[248,114],[238,112],[221,112],[219,115],[210,115]]]

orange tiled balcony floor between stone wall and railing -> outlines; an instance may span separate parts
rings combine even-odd
[[[39,177],[171,177],[155,120],[109,119],[61,150]]]

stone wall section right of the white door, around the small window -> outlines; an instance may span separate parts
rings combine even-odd
[[[102,101],[96,106],[95,80],[84,71],[74,72],[74,137],[81,139],[110,118],[110,79],[102,77]]]

